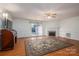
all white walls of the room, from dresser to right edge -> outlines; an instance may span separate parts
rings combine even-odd
[[[42,26],[43,35],[48,35],[48,31],[56,31],[56,36],[67,37],[66,33],[71,33],[70,38],[79,39],[79,17],[42,22]],[[18,37],[31,36],[31,23],[27,20],[14,20],[13,28],[17,31]]]

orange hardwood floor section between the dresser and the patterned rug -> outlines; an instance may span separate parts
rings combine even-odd
[[[13,50],[0,51],[0,56],[24,56],[25,55],[25,45],[24,40],[18,39]]]

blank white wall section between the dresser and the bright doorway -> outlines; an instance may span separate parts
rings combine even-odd
[[[29,21],[27,20],[14,20],[13,21],[13,29],[17,31],[18,37],[29,37],[31,36],[31,26]]]

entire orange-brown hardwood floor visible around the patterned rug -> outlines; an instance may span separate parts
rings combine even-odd
[[[39,37],[41,38],[41,37]],[[52,38],[52,37],[48,37]],[[72,39],[66,39],[66,38],[61,38],[57,37],[60,40],[63,40],[67,43],[73,44],[73,46],[51,52],[49,54],[46,54],[45,56],[79,56],[79,41],[77,40],[72,40]],[[15,47],[13,50],[9,51],[0,51],[0,56],[25,56],[25,41],[27,41],[28,38],[21,38],[18,39]]]

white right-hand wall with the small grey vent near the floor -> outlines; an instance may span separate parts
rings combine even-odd
[[[71,33],[72,39],[79,40],[79,17],[64,19],[60,22],[60,36],[67,37],[66,33]]]

